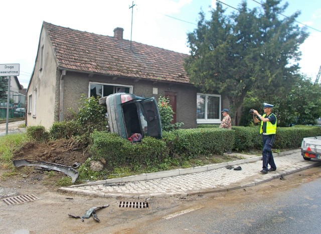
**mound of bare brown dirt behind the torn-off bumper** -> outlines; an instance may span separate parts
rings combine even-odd
[[[14,153],[14,160],[46,161],[65,166],[72,166],[76,162],[84,163],[87,157],[81,148],[73,147],[69,140],[28,142]]]

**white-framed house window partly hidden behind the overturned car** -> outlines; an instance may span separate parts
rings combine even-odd
[[[89,97],[105,97],[113,93],[132,93],[132,86],[89,82]]]

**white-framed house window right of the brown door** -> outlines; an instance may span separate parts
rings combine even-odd
[[[197,123],[221,122],[221,95],[197,94],[196,115]]]

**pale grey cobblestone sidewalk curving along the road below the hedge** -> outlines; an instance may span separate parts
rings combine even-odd
[[[242,161],[245,163],[242,163]],[[277,170],[268,174],[259,173],[262,169],[262,161],[260,158],[257,158],[253,162],[240,160],[239,164],[234,165],[234,168],[241,166],[242,170],[227,169],[224,166],[209,171],[165,178],[124,183],[70,186],[60,188],[60,190],[106,197],[133,198],[201,194],[253,186],[279,178],[281,175],[321,165],[320,161],[303,160],[301,152],[298,150],[284,156],[276,156],[274,161]]]

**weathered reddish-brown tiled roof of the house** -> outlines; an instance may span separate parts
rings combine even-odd
[[[60,68],[104,75],[189,83],[186,54],[44,22]]]

